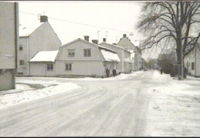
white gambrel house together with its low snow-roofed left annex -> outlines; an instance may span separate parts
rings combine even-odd
[[[46,56],[46,55],[49,56]],[[89,37],[76,39],[59,48],[59,51],[41,51],[30,60],[31,76],[112,76],[120,59],[112,49],[98,45]]]

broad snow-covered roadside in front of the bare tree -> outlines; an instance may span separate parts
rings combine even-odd
[[[157,78],[157,85],[149,89],[152,98],[146,134],[200,136],[200,81],[169,79],[158,72],[153,77]]]

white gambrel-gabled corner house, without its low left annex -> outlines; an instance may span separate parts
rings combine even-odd
[[[120,59],[115,51],[97,43],[89,42],[89,36],[85,36],[85,40],[79,38],[60,47],[55,63],[56,74],[105,77],[106,69],[109,69],[112,75]]]

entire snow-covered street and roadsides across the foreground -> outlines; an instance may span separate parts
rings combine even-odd
[[[139,71],[16,82],[0,93],[0,136],[200,136],[200,79]]]

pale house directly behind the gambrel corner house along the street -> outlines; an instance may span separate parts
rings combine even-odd
[[[106,38],[103,38],[103,42],[100,45],[110,48],[117,52],[120,62],[117,64],[117,72],[130,73],[132,70],[132,64],[134,64],[131,52],[118,45],[109,44],[106,42]]]

